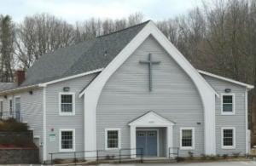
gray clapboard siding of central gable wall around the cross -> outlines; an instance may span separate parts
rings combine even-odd
[[[139,60],[160,60],[153,66],[153,91],[148,92],[148,66]],[[121,129],[121,148],[130,147],[128,123],[154,111],[175,122],[173,145],[179,146],[181,127],[195,127],[195,156],[204,152],[204,112],[195,84],[153,37],[143,44],[113,73],[102,89],[96,108],[96,145],[105,148],[106,128]],[[196,123],[200,122],[201,125]],[[189,151],[181,151],[188,156]]]

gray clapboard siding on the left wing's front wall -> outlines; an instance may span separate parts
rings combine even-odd
[[[84,77],[74,78],[61,83],[50,84],[46,87],[46,140],[47,140],[47,157],[49,152],[59,152],[59,130],[75,129],[76,151],[84,151],[84,98],[79,98],[79,92],[90,83],[96,74],[90,74]],[[71,93],[75,93],[75,115],[59,115],[59,93],[63,92],[63,87],[70,87]],[[51,131],[54,129],[54,131]],[[55,134],[55,142],[49,141],[49,135]],[[83,153],[78,153],[83,155]],[[58,155],[55,157],[64,157]],[[66,157],[73,157],[70,153]]]

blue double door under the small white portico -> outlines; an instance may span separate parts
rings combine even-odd
[[[155,130],[142,130],[137,131],[137,154],[141,153],[143,149],[143,155],[145,157],[157,156],[157,131]]]

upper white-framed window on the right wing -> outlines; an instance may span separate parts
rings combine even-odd
[[[235,94],[222,94],[221,110],[223,115],[235,114]]]

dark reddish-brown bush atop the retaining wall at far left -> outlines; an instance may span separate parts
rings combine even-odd
[[[9,118],[0,122],[0,132],[28,131],[26,123],[17,122],[15,118]]]

